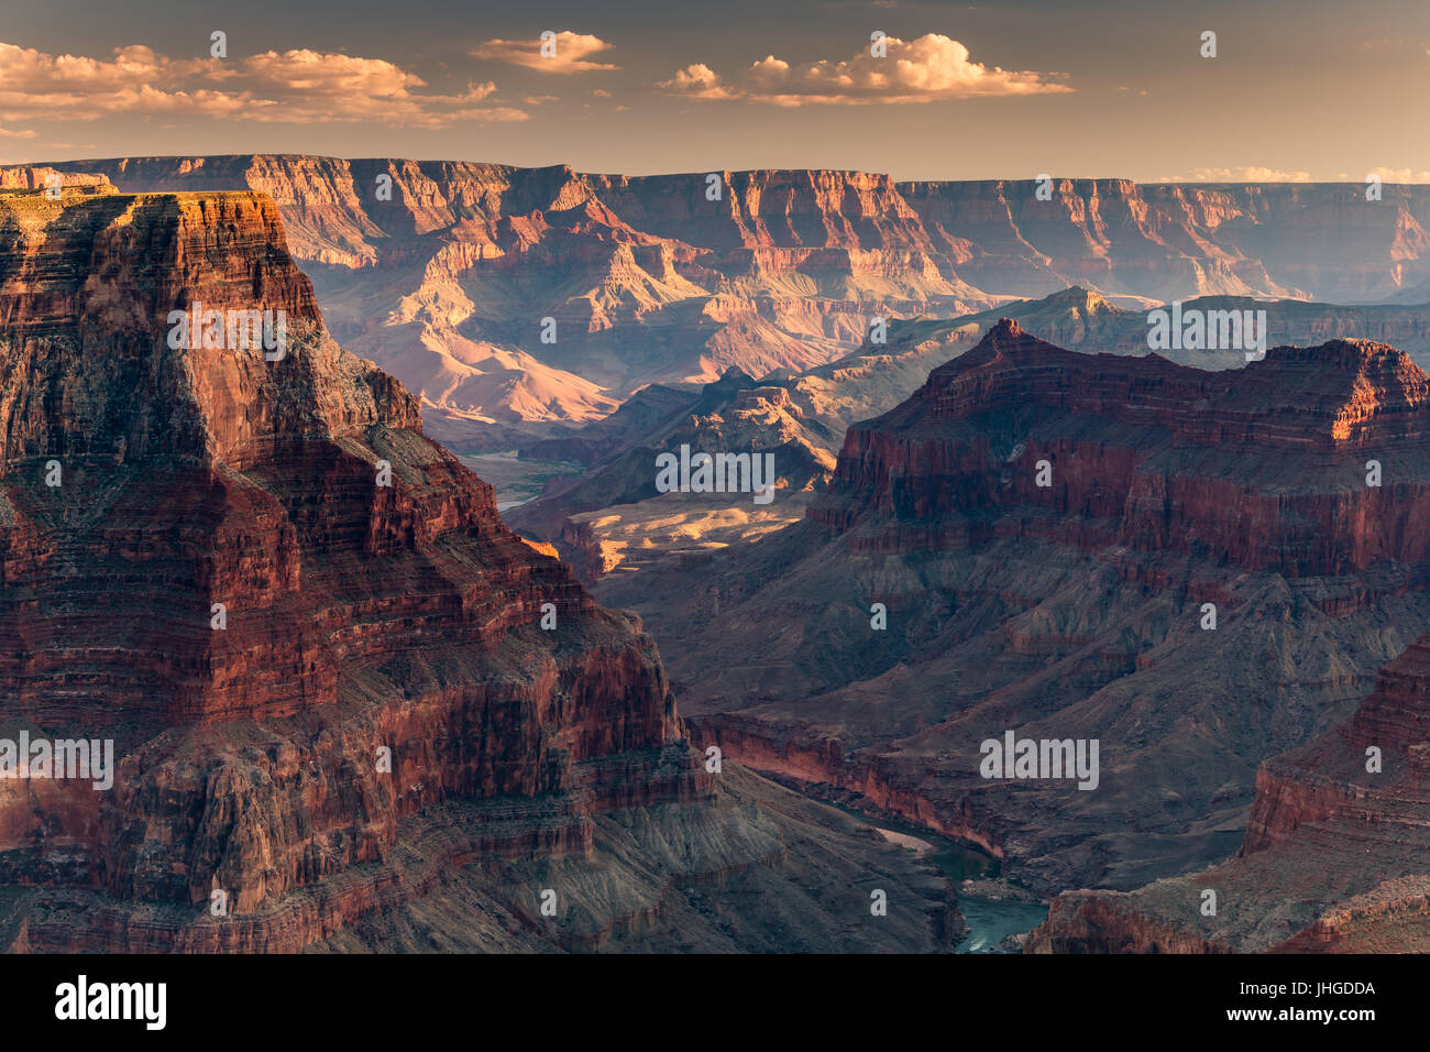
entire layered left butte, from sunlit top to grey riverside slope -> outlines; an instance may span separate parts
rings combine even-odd
[[[93,189],[0,195],[0,736],[116,741],[110,790],[0,780],[7,946],[948,945],[931,866],[705,770],[651,637],[339,348],[270,199]],[[196,303],[286,345],[173,345]]]

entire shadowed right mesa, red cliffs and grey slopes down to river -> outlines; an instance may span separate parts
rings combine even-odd
[[[1427,398],[1384,344],[1205,372],[1005,321],[852,427],[804,522],[596,594],[661,625],[698,743],[1137,887],[1231,856],[1258,764],[1430,628]],[[980,777],[1008,730],[1100,740],[1100,786]]]

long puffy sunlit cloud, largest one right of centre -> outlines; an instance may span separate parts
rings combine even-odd
[[[845,62],[791,66],[769,54],[726,82],[709,66],[694,63],[656,84],[691,99],[744,100],[774,106],[868,106],[945,99],[1071,92],[1055,83],[1062,73],[1004,70],[972,62],[968,49],[938,33],[917,40],[885,37],[887,56],[861,50]]]

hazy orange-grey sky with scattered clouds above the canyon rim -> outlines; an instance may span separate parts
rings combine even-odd
[[[1427,99],[1427,0],[0,11],[3,163],[320,153],[625,175],[1430,182]]]

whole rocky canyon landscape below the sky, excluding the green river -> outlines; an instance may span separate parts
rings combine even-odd
[[[1430,945],[1430,187],[715,175],[0,169],[0,739],[120,757],[0,780],[0,945],[954,948],[828,803],[1024,950]]]

